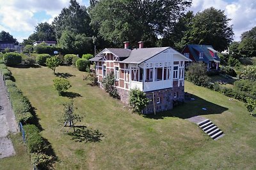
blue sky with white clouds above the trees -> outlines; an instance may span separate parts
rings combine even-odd
[[[89,5],[89,0],[77,0]],[[69,0],[0,0],[0,31],[9,32],[20,43],[35,31],[40,22],[51,23]],[[234,40],[240,41],[241,33],[256,26],[255,0],[193,0],[188,10],[197,13],[213,6],[225,11],[231,18],[229,24],[234,31]]]

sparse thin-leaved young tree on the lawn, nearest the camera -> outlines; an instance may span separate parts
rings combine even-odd
[[[74,132],[76,131],[76,129],[75,129],[75,124],[77,123],[77,122],[81,122],[81,120],[83,120],[83,117],[81,117],[81,116],[79,116],[78,114],[75,114],[74,113],[74,110],[76,109],[76,108],[74,108],[74,104],[73,104],[74,102],[73,102],[73,100],[72,101],[70,101],[69,103],[64,103],[63,104],[63,106],[64,106],[64,108],[63,108],[63,111],[64,111],[64,113],[63,113],[63,118],[61,118],[60,120],[59,120],[59,122],[61,123],[61,124],[64,124],[64,127],[65,126],[68,126],[68,127],[73,127],[73,129],[74,129]]]

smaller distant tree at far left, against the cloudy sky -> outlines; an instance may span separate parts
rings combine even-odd
[[[51,24],[44,22],[36,25],[35,32],[28,39],[24,39],[24,45],[31,45],[35,41],[56,41],[56,32]]]

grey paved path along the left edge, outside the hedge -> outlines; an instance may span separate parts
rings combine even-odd
[[[18,126],[0,74],[0,159],[15,155],[13,144],[8,138],[8,134],[16,132],[18,132]]]

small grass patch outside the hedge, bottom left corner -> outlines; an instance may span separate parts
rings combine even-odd
[[[10,138],[12,139],[12,143],[13,143],[16,155],[13,157],[0,159],[0,169],[4,169],[4,170],[32,169],[33,166],[31,165],[31,160],[29,158],[28,150],[26,150],[26,146],[24,145],[20,134],[12,134]]]

